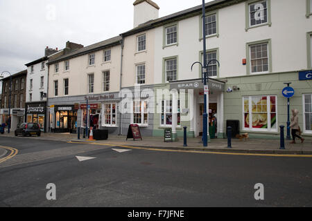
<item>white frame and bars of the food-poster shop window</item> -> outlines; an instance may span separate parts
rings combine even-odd
[[[276,119],[275,119],[275,127],[276,128],[272,128],[272,125],[271,125],[271,111],[268,111],[268,107],[270,107],[270,97],[275,97],[275,116],[276,116]],[[245,127],[245,97],[248,97],[248,114],[250,115],[251,114],[257,114],[259,112],[252,112],[252,97],[266,97],[266,100],[267,100],[267,103],[266,103],[266,106],[267,106],[267,110],[266,112],[263,112],[263,113],[266,113],[267,114],[267,118],[268,118],[268,127],[267,128],[252,128],[252,124],[249,124],[249,128],[246,128]],[[269,98],[269,99],[268,99]],[[243,109],[242,109],[242,128],[243,128],[243,131],[250,131],[250,132],[253,132],[253,131],[258,131],[258,132],[268,132],[268,133],[277,133],[278,132],[278,102],[277,102],[277,95],[250,95],[250,96],[243,96],[242,97],[242,105],[243,105]],[[249,119],[252,119],[252,115],[249,116]],[[270,120],[269,120],[270,119]]]

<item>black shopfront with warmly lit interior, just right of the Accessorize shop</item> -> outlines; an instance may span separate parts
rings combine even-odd
[[[76,133],[77,109],[73,105],[54,106],[54,133]]]

